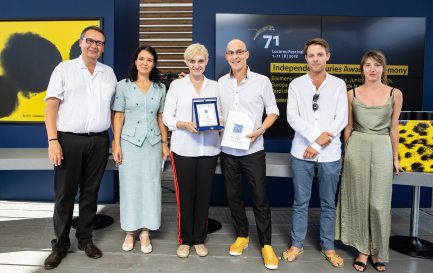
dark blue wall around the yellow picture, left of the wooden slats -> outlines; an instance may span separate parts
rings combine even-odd
[[[104,63],[123,79],[138,46],[139,0],[0,1],[1,20],[69,18],[102,18],[106,34]],[[47,147],[44,124],[0,124],[0,148],[6,147]],[[0,171],[0,199],[51,200],[52,181],[52,172]],[[101,184],[101,202],[116,201],[115,184],[113,173],[107,172]],[[35,185],[40,189],[37,193]]]

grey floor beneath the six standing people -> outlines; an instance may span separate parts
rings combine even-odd
[[[120,229],[119,205],[100,205],[99,213],[112,216],[114,224],[94,232],[94,241],[104,256],[89,259],[77,249],[72,239],[72,247],[61,265],[51,272],[270,272],[263,266],[260,248],[254,226],[254,216],[248,209],[251,243],[240,257],[228,255],[228,247],[234,239],[230,211],[226,207],[212,207],[210,218],[222,223],[222,228],[208,236],[209,256],[198,257],[194,252],[188,259],[176,257],[177,226],[174,194],[163,190],[163,217],[161,229],[151,233],[154,251],[142,254],[139,244],[128,253],[121,250],[124,232]],[[0,201],[0,273],[47,272],[43,261],[50,253],[53,204],[34,202]],[[77,214],[75,208],[74,214]],[[392,210],[392,234],[408,235],[409,209]],[[355,272],[351,266],[355,252],[350,247],[336,245],[338,253],[344,258],[344,268],[331,267],[320,255],[318,246],[319,211],[310,209],[308,237],[305,252],[293,263],[280,261],[281,272]],[[291,209],[272,208],[272,244],[280,255],[289,244],[291,228]],[[420,238],[433,242],[433,210],[422,209],[420,213]],[[74,238],[74,230],[71,231]],[[369,266],[366,272],[375,272]],[[388,272],[433,272],[432,260],[411,258],[391,250]]]

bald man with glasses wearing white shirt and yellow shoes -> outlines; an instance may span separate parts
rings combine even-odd
[[[230,111],[255,117],[254,131],[247,135],[251,139],[249,149],[222,147],[220,157],[227,201],[237,233],[236,241],[230,246],[230,255],[242,255],[249,243],[249,224],[242,197],[244,176],[250,185],[263,262],[266,268],[277,269],[278,258],[271,246],[271,209],[266,191],[263,134],[274,124],[280,113],[269,78],[252,72],[247,66],[249,52],[246,44],[233,39],[227,44],[225,56],[230,65],[230,73],[218,80],[224,120],[227,120]],[[264,112],[266,118],[262,122]]]

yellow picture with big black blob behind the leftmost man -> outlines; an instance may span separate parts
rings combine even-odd
[[[80,54],[81,31],[99,19],[0,21],[0,122],[43,122],[55,66]]]

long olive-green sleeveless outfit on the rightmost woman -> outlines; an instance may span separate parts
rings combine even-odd
[[[391,232],[393,156],[390,138],[394,96],[381,106],[352,100],[354,128],[344,156],[336,239],[387,262]]]

